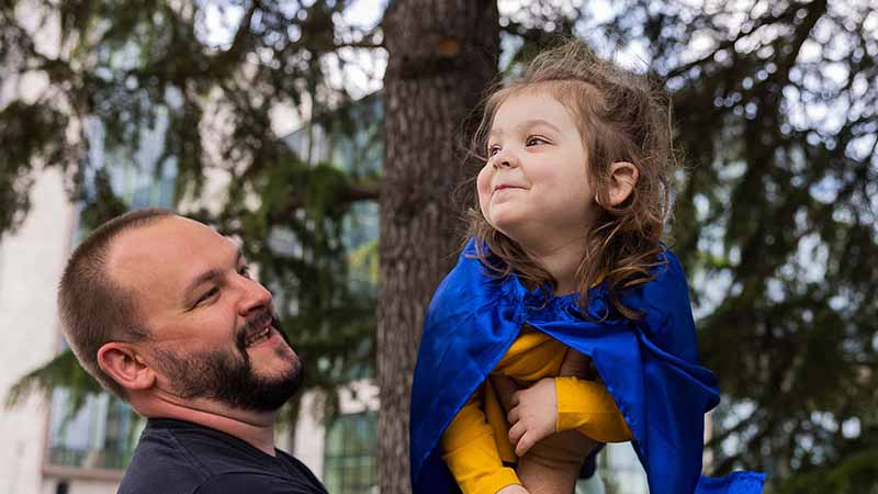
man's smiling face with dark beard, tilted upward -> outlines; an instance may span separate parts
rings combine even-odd
[[[181,398],[270,412],[301,383],[297,356],[271,294],[250,278],[240,250],[179,216],[123,234],[110,274],[134,293],[149,332],[145,358]]]

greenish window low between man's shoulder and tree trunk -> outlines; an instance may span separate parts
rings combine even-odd
[[[378,493],[378,415],[342,415],[326,430],[324,484],[335,494]]]

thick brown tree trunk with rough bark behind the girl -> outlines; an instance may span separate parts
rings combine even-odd
[[[405,0],[384,18],[384,189],[378,308],[379,482],[412,491],[408,405],[424,315],[453,266],[463,231],[453,192],[476,167],[461,138],[497,72],[499,24],[493,0]],[[472,186],[474,187],[474,184]]]

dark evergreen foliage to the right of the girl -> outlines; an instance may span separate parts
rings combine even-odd
[[[675,250],[698,276],[701,355],[739,404],[714,415],[716,470],[766,470],[777,492],[867,492],[875,5],[752,3],[632,1],[611,21],[621,41],[645,38],[686,153]]]

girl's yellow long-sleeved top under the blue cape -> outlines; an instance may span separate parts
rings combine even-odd
[[[556,431],[577,429],[599,442],[631,440],[631,430],[601,382],[558,377],[569,350],[556,339],[525,326],[493,373],[525,385],[554,377]],[[441,439],[442,458],[463,494],[494,494],[521,483],[515,470],[503,464],[518,460],[508,430],[506,413],[494,389],[483,383]]]

